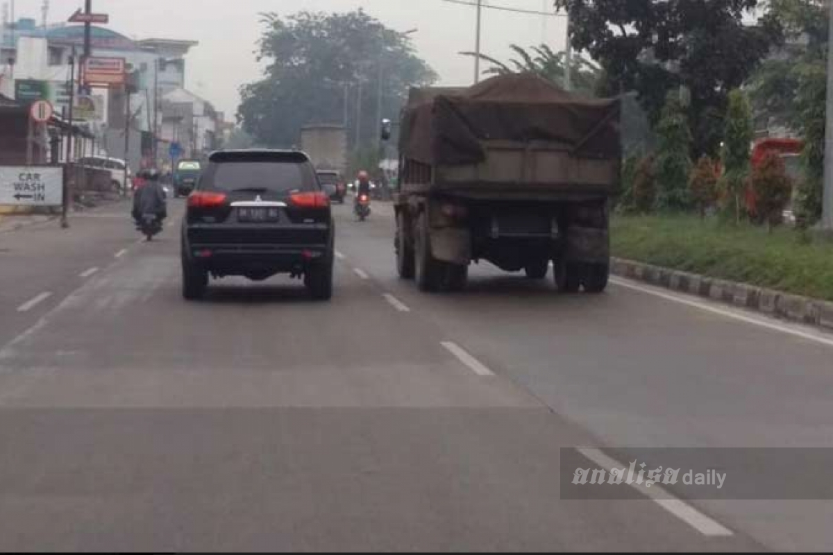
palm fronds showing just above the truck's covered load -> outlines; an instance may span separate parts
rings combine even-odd
[[[481,60],[491,64],[491,67],[483,70],[483,75],[531,72],[560,87],[565,86],[566,56],[564,52],[552,52],[546,44],[531,47],[532,52],[527,52],[525,48],[516,44],[512,44],[510,48],[517,57],[506,63],[481,53]],[[478,56],[476,52],[460,53],[463,56]],[[576,56],[572,59],[571,69],[573,91],[588,97],[595,96],[597,83],[601,77],[601,67],[581,56]]]

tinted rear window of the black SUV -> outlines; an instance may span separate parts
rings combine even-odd
[[[312,170],[306,162],[219,161],[211,162],[202,176],[203,191],[263,189],[274,193],[314,191]]]

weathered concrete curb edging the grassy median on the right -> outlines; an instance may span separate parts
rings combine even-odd
[[[668,290],[716,300],[761,314],[833,331],[833,303],[706,275],[613,258],[611,272]]]

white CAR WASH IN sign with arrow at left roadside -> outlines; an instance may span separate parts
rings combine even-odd
[[[0,205],[61,206],[60,166],[0,166]]]

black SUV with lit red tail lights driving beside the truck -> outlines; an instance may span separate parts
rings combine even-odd
[[[304,278],[332,297],[335,230],[330,200],[299,151],[217,151],[182,221],[182,296],[205,294],[208,276]]]

